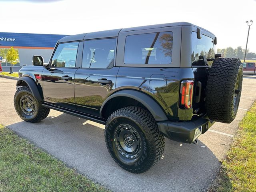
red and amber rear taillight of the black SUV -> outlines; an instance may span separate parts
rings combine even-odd
[[[182,108],[189,109],[192,107],[193,99],[193,80],[183,80],[180,85],[180,105]]]

